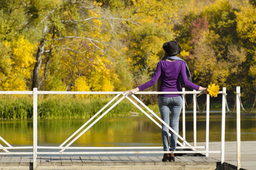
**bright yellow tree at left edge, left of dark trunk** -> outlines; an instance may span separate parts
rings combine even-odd
[[[28,24],[29,1],[0,3],[0,89],[28,90],[36,45],[23,34]]]

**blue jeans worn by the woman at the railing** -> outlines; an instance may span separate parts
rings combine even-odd
[[[182,96],[176,97],[162,97],[159,96],[159,111],[161,119],[167,125],[170,125],[170,111],[171,111],[171,128],[178,133],[178,121],[182,108]],[[178,137],[171,132],[171,146],[169,149],[169,128],[162,124],[161,136],[164,145],[164,151],[175,150]]]

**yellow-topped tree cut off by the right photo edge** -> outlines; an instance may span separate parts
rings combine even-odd
[[[252,91],[255,91],[256,93],[255,1],[250,1],[250,3],[249,1],[245,1],[245,5],[241,6],[240,11],[235,12],[235,15],[237,16],[238,22],[238,36],[242,41],[242,46],[245,47],[247,52],[246,62],[243,64],[240,77],[242,77],[242,87],[245,89],[245,96],[250,96],[250,94],[252,94]]]

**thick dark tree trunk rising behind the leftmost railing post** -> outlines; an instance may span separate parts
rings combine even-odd
[[[42,56],[43,56],[44,47],[45,47],[45,42],[44,42],[44,39],[42,39],[40,42],[40,45],[38,47],[38,51],[36,53],[36,64],[33,69],[32,90],[33,90],[33,88],[38,88],[38,90],[39,90],[39,87],[40,87],[39,71],[40,71],[41,64],[42,64]]]

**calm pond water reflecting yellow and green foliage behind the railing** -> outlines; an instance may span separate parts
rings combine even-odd
[[[182,118],[181,118],[182,120]],[[197,116],[197,141],[205,142],[206,116]],[[220,141],[221,115],[210,115],[210,141]],[[235,115],[226,116],[226,141],[236,140]],[[58,146],[87,119],[39,120],[38,145]],[[241,140],[256,141],[256,117],[241,118]],[[180,123],[180,134],[182,125]],[[0,121],[0,136],[11,145],[33,144],[31,120]],[[193,118],[186,117],[186,140],[193,142]],[[0,142],[4,145],[3,142]],[[161,129],[146,116],[102,118],[73,146],[161,146]]]

